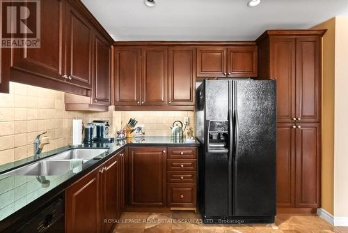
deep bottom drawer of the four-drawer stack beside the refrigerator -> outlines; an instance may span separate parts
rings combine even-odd
[[[196,184],[171,183],[167,185],[169,207],[196,207]]]

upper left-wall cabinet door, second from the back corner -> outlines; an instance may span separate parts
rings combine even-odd
[[[67,3],[66,74],[69,83],[92,89],[93,31],[86,18]]]

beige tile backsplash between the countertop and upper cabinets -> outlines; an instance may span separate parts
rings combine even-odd
[[[109,120],[110,135],[135,118],[145,125],[147,136],[168,136],[173,121],[189,117],[194,126],[193,112],[120,112],[109,107],[109,112],[65,111],[64,93],[40,87],[10,82],[10,93],[0,93],[0,165],[33,156],[33,141],[47,131],[49,151],[72,142],[72,119],[84,123],[95,119]]]

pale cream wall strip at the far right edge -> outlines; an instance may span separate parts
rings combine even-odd
[[[334,215],[348,218],[348,17],[336,17]]]

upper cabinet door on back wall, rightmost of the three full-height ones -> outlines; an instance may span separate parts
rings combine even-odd
[[[195,48],[175,47],[168,50],[169,105],[194,105],[195,70]]]

